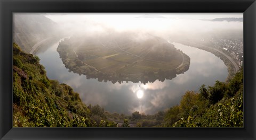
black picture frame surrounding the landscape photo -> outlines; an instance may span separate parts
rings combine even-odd
[[[255,139],[255,0],[0,0],[0,139]],[[13,12],[243,12],[244,128],[12,128]]]

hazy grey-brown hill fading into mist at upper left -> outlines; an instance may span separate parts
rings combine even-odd
[[[59,26],[40,13],[13,14],[13,42],[25,52],[39,41],[58,36]]]

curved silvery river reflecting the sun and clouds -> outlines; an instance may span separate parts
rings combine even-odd
[[[173,42],[175,48],[190,57],[188,71],[177,75],[172,80],[154,83],[99,82],[86,79],[85,75],[70,72],[65,67],[57,52],[59,42],[42,46],[47,50],[38,50],[36,55],[45,67],[47,77],[70,85],[79,93],[86,104],[99,104],[106,111],[131,115],[134,111],[154,114],[179,104],[183,94],[188,90],[198,91],[202,84],[214,85],[215,81],[226,81],[227,66],[210,52]]]

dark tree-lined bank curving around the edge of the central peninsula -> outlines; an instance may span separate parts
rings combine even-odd
[[[188,71],[190,65],[190,58],[181,50],[177,50],[177,52],[179,52],[182,57],[182,63],[176,68],[159,68],[157,71],[150,70],[143,71],[142,73],[105,73],[79,59],[77,52],[70,46],[71,44],[67,40],[64,40],[60,42],[60,45],[57,48],[57,51],[59,52],[60,58],[62,59],[63,64],[65,64],[65,67],[74,73],[78,73],[79,75],[86,75],[86,78],[88,79],[98,78],[99,82],[111,81],[112,83],[122,83],[124,81],[131,81],[133,83],[141,82],[143,84],[149,82],[153,83],[156,80],[163,82],[164,80],[172,80],[172,78],[176,77],[178,74],[182,74]],[[130,65],[137,65],[137,63],[138,61],[135,61]],[[128,68],[126,65],[125,67]]]

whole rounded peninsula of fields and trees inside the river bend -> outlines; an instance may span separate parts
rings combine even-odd
[[[57,51],[71,71],[98,80],[154,82],[187,71],[190,58],[166,40],[146,34],[76,38],[60,42]],[[81,39],[80,39],[81,40]]]

